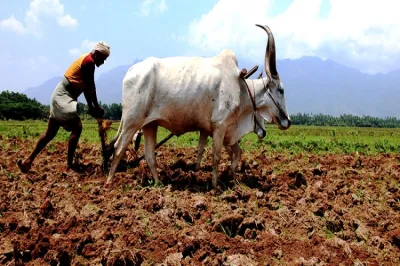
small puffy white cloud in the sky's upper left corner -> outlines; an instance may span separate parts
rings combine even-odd
[[[25,26],[14,16],[0,22],[1,28],[16,33],[30,33],[36,36],[43,35],[41,19],[47,17],[55,19],[62,28],[75,28],[78,21],[69,14],[65,14],[64,5],[60,0],[32,0],[25,14]]]

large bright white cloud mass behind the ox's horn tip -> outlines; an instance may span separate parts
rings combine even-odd
[[[266,24],[275,36],[280,59],[319,56],[370,73],[398,67],[400,1],[329,0],[327,18],[320,16],[322,2],[294,0],[272,17],[273,0],[248,0],[245,6],[241,0],[220,0],[190,24],[188,40],[208,53],[231,48],[258,62],[267,39],[255,24]]]

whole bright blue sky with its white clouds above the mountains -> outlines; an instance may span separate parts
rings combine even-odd
[[[318,56],[367,73],[400,68],[398,0],[0,0],[0,90],[60,76],[96,41],[111,56],[96,77],[148,56],[230,48],[262,62],[270,26],[278,59]]]

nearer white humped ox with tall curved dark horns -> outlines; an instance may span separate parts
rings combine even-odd
[[[267,26],[257,26],[268,34],[265,78],[239,78],[238,62],[231,50],[209,58],[150,57],[128,70],[123,80],[121,123],[111,142],[114,154],[107,184],[141,128],[145,158],[156,182],[159,179],[154,149],[158,126],[177,136],[200,131],[200,157],[202,143],[211,136],[212,185],[216,187],[222,146],[229,147],[234,170],[241,153],[238,141],[254,131],[256,124],[262,124],[262,133],[256,130],[259,137],[265,136],[263,119],[282,130],[290,127],[283,84],[276,71],[274,37]]]

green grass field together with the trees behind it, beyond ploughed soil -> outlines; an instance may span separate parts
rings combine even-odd
[[[101,104],[101,103],[100,103]],[[119,120],[121,104],[101,104],[105,119]],[[87,105],[78,103],[78,113],[83,120],[81,141],[98,143],[96,121],[87,114]],[[0,93],[0,136],[21,137],[36,141],[47,126],[49,107],[25,94],[3,91]],[[29,120],[27,120],[29,119]],[[267,136],[258,140],[248,134],[241,140],[244,151],[280,152],[331,152],[331,153],[397,153],[400,152],[400,120],[394,117],[376,118],[369,116],[295,114],[291,115],[292,127],[281,131],[275,125],[267,126]],[[25,120],[25,121],[21,121]],[[114,122],[108,139],[114,137],[119,122]],[[159,128],[158,141],[169,132]],[[56,141],[65,141],[69,133],[60,129]],[[197,147],[199,133],[187,133],[174,137],[165,145],[171,147]],[[143,140],[142,140],[143,141]],[[210,145],[210,138],[209,138]]]

